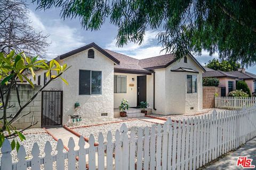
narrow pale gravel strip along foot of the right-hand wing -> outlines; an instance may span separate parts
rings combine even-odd
[[[229,111],[226,109],[215,109],[218,112],[224,112],[224,111]],[[170,117],[172,120],[183,120],[183,119],[188,119],[196,116],[203,116],[203,115],[208,115],[212,114],[214,109],[202,109],[201,111],[194,112],[194,113],[189,113],[189,114],[183,114],[183,115],[158,115],[158,114],[149,114],[149,116],[154,116],[154,117],[159,117],[159,118],[168,118]]]

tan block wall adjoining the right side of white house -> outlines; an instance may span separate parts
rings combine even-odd
[[[203,87],[203,108],[214,108],[214,95],[220,96],[220,88],[214,86]]]

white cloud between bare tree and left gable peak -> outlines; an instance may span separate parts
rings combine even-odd
[[[79,35],[78,29],[63,24],[60,19],[49,19],[43,23],[41,18],[31,10],[29,10],[29,17],[36,31],[49,35],[47,41],[51,44],[47,48],[46,58],[54,58],[86,44],[84,38]]]

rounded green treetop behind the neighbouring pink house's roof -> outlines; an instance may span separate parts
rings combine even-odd
[[[205,65],[206,67],[209,67],[213,70],[220,70],[220,71],[237,71],[238,68],[241,67],[239,63],[236,63],[234,61],[226,61],[222,60],[221,62],[215,58],[213,60],[210,60],[208,64]]]

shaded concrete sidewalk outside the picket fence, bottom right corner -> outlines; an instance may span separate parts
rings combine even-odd
[[[230,155],[220,159],[218,162],[208,166],[205,170],[215,169],[243,169],[241,166],[237,167],[237,158],[239,156],[247,156],[253,159],[252,165],[256,166],[256,138],[248,141],[242,148],[232,152]],[[246,168],[256,169],[256,168]]]

